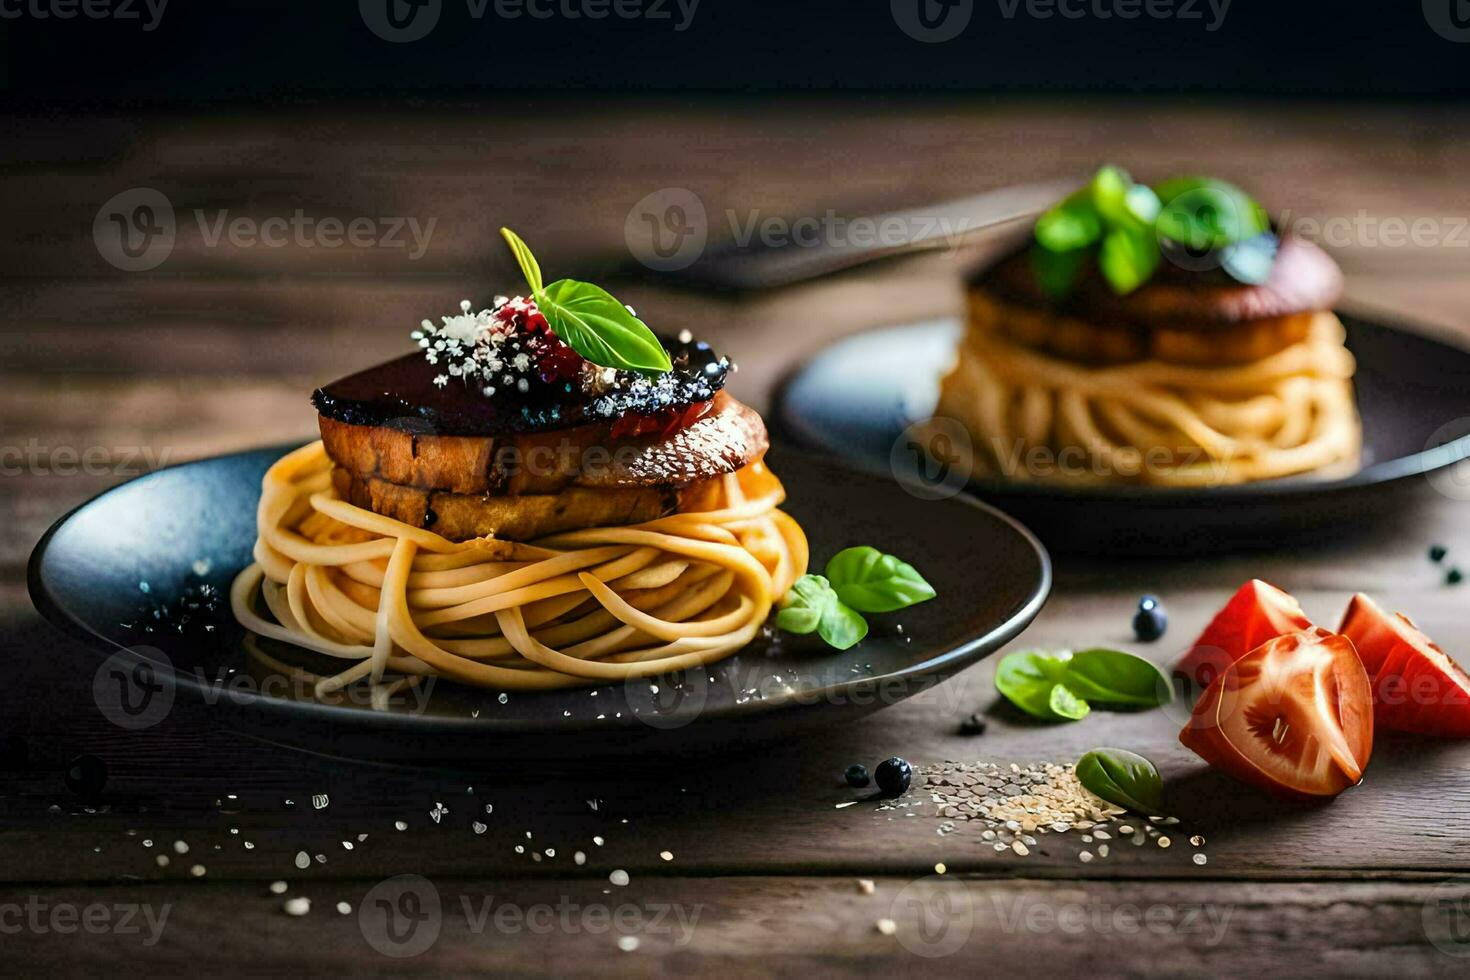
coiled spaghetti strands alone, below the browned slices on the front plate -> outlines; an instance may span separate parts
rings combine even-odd
[[[448,541],[348,504],[331,475],[320,442],[266,472],[256,561],[231,589],[248,630],[344,661],[319,693],[388,673],[550,689],[707,664],[807,570],[760,460],[667,517],[529,544]]]

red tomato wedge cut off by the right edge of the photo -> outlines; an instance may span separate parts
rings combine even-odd
[[[1379,727],[1470,736],[1470,676],[1402,613],[1386,613],[1358,592],[1338,630],[1358,648],[1373,679]]]

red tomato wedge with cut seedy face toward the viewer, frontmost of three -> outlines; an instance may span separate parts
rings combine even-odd
[[[1273,793],[1336,796],[1363,780],[1373,752],[1367,671],[1347,636],[1277,636],[1210,685],[1179,741]]]

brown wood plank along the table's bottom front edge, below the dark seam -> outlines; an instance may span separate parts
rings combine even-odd
[[[307,882],[290,892],[310,899],[297,918],[260,883],[204,879],[12,887],[0,912],[18,926],[4,939],[16,976],[112,973],[122,961],[154,976],[209,964],[294,976],[1417,977],[1455,970],[1451,954],[1466,949],[1454,932],[1463,882],[873,884],[864,895],[828,877]]]

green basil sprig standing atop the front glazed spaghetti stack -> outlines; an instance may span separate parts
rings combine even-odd
[[[531,254],[531,247],[509,228],[501,228],[500,234],[516,256],[537,309],[547,317],[551,332],[567,347],[601,367],[645,375],[662,375],[673,367],[669,351],[653,331],[613,294],[576,279],[557,279],[551,285],[542,285],[541,266]]]

